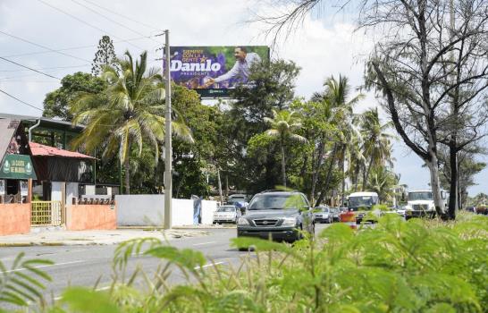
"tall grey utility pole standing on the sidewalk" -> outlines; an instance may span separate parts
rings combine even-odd
[[[171,113],[171,75],[170,75],[170,30],[164,30],[164,83],[166,110],[164,114],[164,229],[172,224],[172,113]]]

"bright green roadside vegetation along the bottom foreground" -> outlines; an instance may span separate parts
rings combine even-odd
[[[486,312],[488,219],[460,214],[456,222],[383,216],[358,231],[332,224],[315,239],[290,244],[250,238],[241,265],[205,266],[195,250],[164,241],[122,243],[109,286],[68,287],[59,300],[38,299],[42,269],[4,272],[0,300],[41,312]],[[156,272],[126,266],[135,253],[161,259]],[[35,261],[29,261],[35,262]],[[42,261],[41,261],[42,262]],[[24,266],[29,263],[24,262]],[[32,263],[35,265],[37,263]],[[38,263],[42,264],[42,263]],[[178,272],[187,283],[173,284]],[[53,277],[55,279],[55,277]],[[102,290],[99,290],[102,289]],[[35,291],[35,292],[34,292]],[[39,293],[40,294],[40,293]],[[31,299],[32,298],[32,299]]]

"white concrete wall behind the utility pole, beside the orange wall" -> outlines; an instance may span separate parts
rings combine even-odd
[[[164,195],[116,195],[115,202],[118,226],[164,224]],[[193,224],[193,200],[172,199],[172,226],[190,224]]]

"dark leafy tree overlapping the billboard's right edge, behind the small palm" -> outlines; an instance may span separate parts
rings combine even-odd
[[[265,117],[273,116],[273,109],[289,109],[294,100],[295,80],[299,67],[283,60],[263,63],[251,69],[250,80],[256,88],[237,88],[223,110],[219,142],[224,160],[221,168],[229,184],[239,190],[257,192],[282,183],[279,147],[270,146],[261,154],[248,154],[251,138],[267,130]]]

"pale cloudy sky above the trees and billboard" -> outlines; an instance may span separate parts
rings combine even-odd
[[[161,66],[156,49],[164,37],[156,35],[162,30],[170,30],[172,46],[271,45],[265,25],[248,21],[285,9],[258,0],[0,0],[0,90],[25,102],[0,93],[0,112],[42,114],[46,93],[60,87],[59,79],[90,72],[104,35],[114,40],[117,55],[147,50],[150,65]],[[292,60],[301,68],[298,97],[307,99],[321,91],[332,75],[347,76],[355,89],[362,85],[364,60],[373,42],[354,31],[351,16],[354,12],[320,7],[273,50],[273,57]],[[378,101],[369,93],[356,112],[374,106]],[[394,143],[393,157],[394,171],[409,190],[428,188],[428,171],[400,141]],[[478,185],[469,189],[470,195],[488,192],[488,170],[475,181]]]

